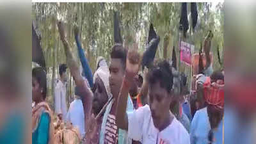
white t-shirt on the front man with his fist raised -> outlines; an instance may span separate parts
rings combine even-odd
[[[133,140],[143,144],[190,144],[188,132],[176,118],[173,118],[172,123],[159,132],[154,126],[148,105],[127,115],[128,136]]]

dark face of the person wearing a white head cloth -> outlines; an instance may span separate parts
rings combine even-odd
[[[104,86],[103,81],[99,76],[96,77],[95,83],[93,85],[93,104],[92,109],[94,113],[97,115],[103,106],[108,102],[108,93]]]

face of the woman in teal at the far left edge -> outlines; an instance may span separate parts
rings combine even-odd
[[[35,77],[32,77],[32,100],[34,102],[38,101],[42,97],[41,91],[42,88],[40,87],[40,84]]]

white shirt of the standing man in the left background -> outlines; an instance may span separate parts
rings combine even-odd
[[[60,80],[56,84],[56,89],[55,89],[55,113],[62,114],[63,118],[66,117],[67,115],[67,103],[66,103],[66,95],[67,95],[67,90],[66,90],[66,84],[62,83]]]

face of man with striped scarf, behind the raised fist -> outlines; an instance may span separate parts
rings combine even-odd
[[[124,66],[122,61],[117,58],[112,58],[109,65],[109,86],[113,97],[118,97],[122,81],[124,78]]]

